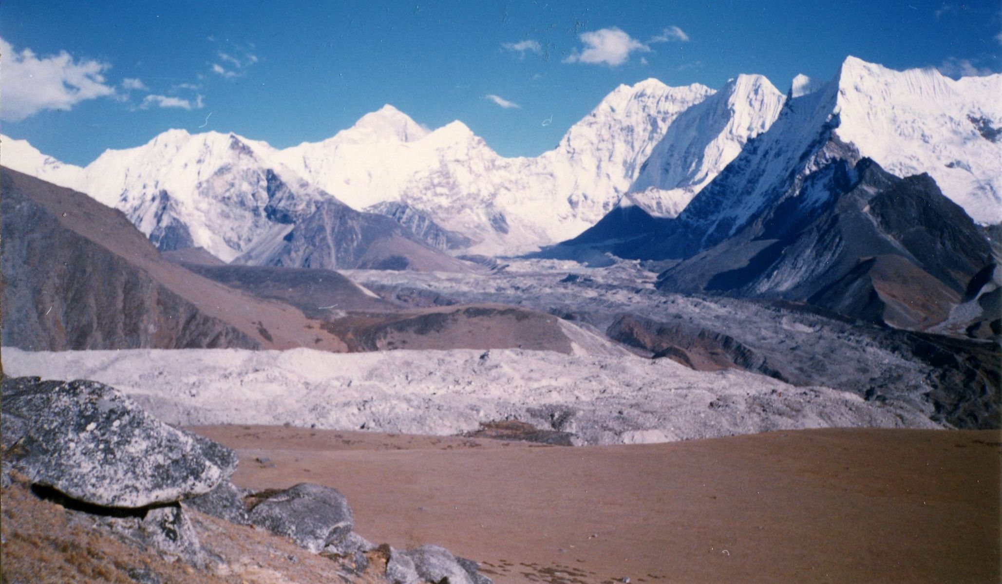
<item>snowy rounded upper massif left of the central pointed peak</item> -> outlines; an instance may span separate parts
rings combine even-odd
[[[168,130],[87,165],[85,192],[121,209],[161,249],[200,246],[223,261],[263,234],[289,230],[327,198],[270,159],[273,148],[235,134]]]

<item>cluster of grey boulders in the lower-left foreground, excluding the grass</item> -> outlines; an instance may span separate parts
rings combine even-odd
[[[16,481],[64,508],[65,521],[84,532],[98,529],[168,562],[207,569],[219,556],[199,541],[189,508],[288,537],[335,561],[343,578],[372,575],[371,559],[382,555],[386,570],[376,581],[490,584],[475,562],[438,546],[377,548],[352,531],[351,507],[330,487],[240,490],[229,482],[236,469],[231,450],[156,420],[108,386],[4,378],[0,390],[2,487]],[[128,574],[137,582],[160,581],[151,572]]]

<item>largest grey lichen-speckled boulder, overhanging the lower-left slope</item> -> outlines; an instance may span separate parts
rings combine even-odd
[[[172,428],[96,382],[4,378],[0,407],[26,423],[5,458],[32,483],[105,507],[139,508],[211,491],[233,451]],[[5,437],[15,439],[11,435]]]

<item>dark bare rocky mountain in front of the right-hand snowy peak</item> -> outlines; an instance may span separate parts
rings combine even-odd
[[[807,302],[854,319],[926,330],[992,263],[974,221],[928,175],[836,160],[799,197],[672,265],[661,289]]]

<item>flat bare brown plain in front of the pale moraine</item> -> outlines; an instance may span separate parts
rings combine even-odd
[[[237,485],[336,487],[370,540],[439,543],[501,584],[1000,577],[994,431],[828,429],[569,448],[193,430],[237,450]]]

